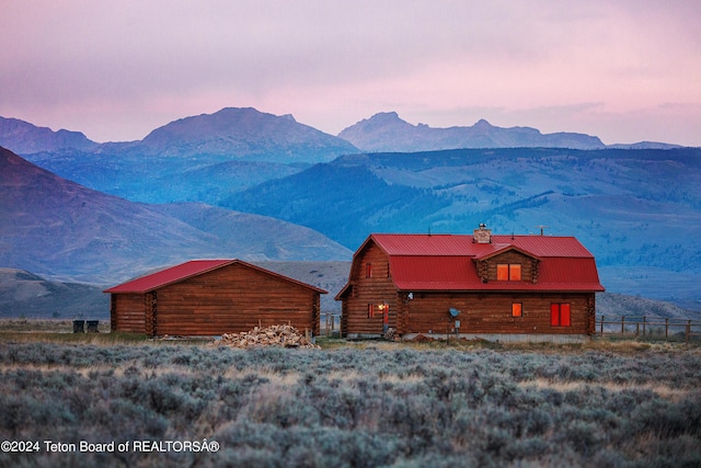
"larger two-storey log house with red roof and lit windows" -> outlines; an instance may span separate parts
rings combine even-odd
[[[342,332],[581,341],[594,333],[595,259],[573,237],[370,235],[353,256]]]

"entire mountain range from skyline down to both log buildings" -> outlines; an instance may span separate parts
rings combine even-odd
[[[7,121],[0,145],[36,165],[2,152],[0,266],[106,284],[194,256],[347,261],[370,232],[486,222],[576,236],[610,292],[701,299],[698,148],[395,113],[334,137],[225,109],[111,144]]]

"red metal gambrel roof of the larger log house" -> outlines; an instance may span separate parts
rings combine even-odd
[[[574,237],[467,235],[370,235],[354,255],[376,244],[389,258],[399,290],[602,292],[594,255]],[[516,250],[539,261],[538,282],[487,282],[475,262]],[[340,298],[347,286],[336,296]]]

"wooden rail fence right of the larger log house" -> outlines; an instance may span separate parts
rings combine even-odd
[[[596,316],[596,334],[643,336],[662,340],[690,340],[701,338],[701,320],[651,319],[645,316]]]

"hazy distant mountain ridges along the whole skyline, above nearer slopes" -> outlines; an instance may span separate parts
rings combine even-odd
[[[241,128],[234,128],[234,124],[241,124]],[[189,128],[187,128],[188,126]],[[0,117],[0,146],[22,156],[68,149],[107,155],[140,151],[145,155],[161,153],[165,156],[204,153],[230,156],[239,151],[238,159],[243,157],[243,159],[260,160],[256,158],[265,155],[264,148],[256,147],[255,139],[251,139],[251,137],[256,136],[256,133],[257,137],[264,135],[261,134],[262,129],[281,129],[284,130],[281,135],[285,141],[299,140],[300,135],[295,135],[290,130],[295,126],[303,130],[302,135],[308,136],[312,140],[312,146],[318,149],[323,148],[324,142],[330,145],[330,151],[322,151],[321,159],[304,161],[311,163],[322,162],[322,160],[327,162],[344,153],[364,151],[415,152],[486,147],[681,148],[680,145],[658,141],[605,145],[598,137],[586,134],[567,132],[542,134],[539,129],[527,126],[505,128],[494,126],[484,118],[480,118],[472,126],[430,127],[422,123],[412,125],[400,118],[394,111],[377,113],[344,128],[337,136],[332,136],[309,125],[298,123],[291,114],[277,116],[257,111],[255,107],[223,107],[211,114],[203,113],[185,116],[154,128],[141,140],[103,144],[88,139],[80,132],[65,129],[54,132],[50,128],[38,127],[18,118]],[[184,134],[179,135],[177,130],[183,128],[185,128]],[[195,129],[197,132],[193,133]],[[376,135],[372,135],[372,133]],[[392,146],[391,142],[387,141],[389,137],[384,137],[384,135],[393,136],[400,140],[410,138],[410,141],[394,142],[394,146]],[[241,137],[240,141],[237,141],[237,136]],[[470,139],[471,137],[473,139]],[[411,138],[416,139],[417,146],[410,145]],[[521,139],[519,140],[519,138]],[[526,140],[522,140],[522,138],[526,138]],[[338,139],[343,142],[337,141]],[[174,144],[173,140],[176,142]],[[354,140],[358,145],[355,145]],[[370,144],[361,144],[365,140],[369,140]],[[460,141],[464,141],[464,146],[461,146]],[[275,149],[273,153],[276,155],[276,158],[296,155],[295,148]]]

